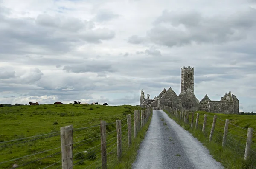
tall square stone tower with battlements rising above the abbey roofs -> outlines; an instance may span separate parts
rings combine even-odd
[[[181,68],[181,93],[190,89],[194,93],[194,67]]]

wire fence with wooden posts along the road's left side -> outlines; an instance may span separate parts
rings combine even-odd
[[[135,110],[116,122],[0,142],[0,169],[111,168],[129,151],[152,108]],[[26,154],[26,155],[24,155]]]

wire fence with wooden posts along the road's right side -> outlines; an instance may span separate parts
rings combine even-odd
[[[253,128],[240,127],[217,115],[202,115],[168,106],[162,109],[186,130],[198,130],[209,139],[209,143],[235,153],[238,157],[236,160],[240,160],[244,169],[256,169],[256,133]]]

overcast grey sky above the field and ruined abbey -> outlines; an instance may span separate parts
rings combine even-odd
[[[139,105],[231,91],[256,111],[256,0],[0,0],[0,103]]]

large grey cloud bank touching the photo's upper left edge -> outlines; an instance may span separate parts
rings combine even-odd
[[[36,19],[2,16],[0,23],[5,25],[0,27],[0,57],[4,54],[66,53],[80,43],[101,43],[115,37],[114,31],[95,28],[92,21],[47,14]]]

